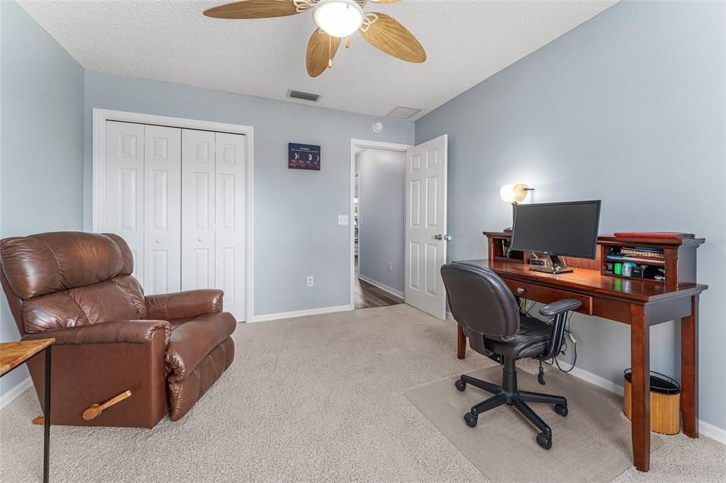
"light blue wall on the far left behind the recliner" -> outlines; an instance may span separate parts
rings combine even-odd
[[[83,69],[23,9],[0,1],[0,238],[83,228]],[[4,294],[0,341],[17,340]],[[28,376],[0,379],[0,395]]]

